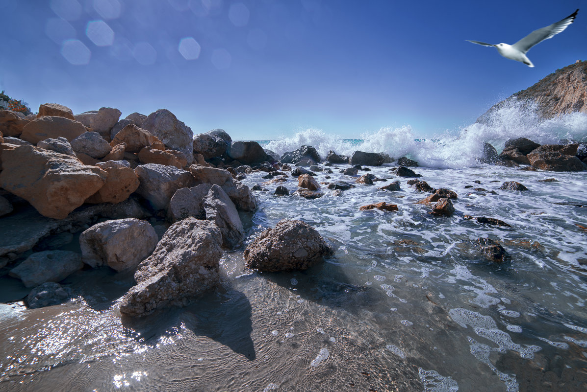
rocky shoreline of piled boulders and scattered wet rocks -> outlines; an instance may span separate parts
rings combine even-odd
[[[58,282],[88,268],[133,272],[136,285],[124,295],[120,313],[142,316],[168,306],[184,306],[220,279],[225,251],[241,247],[245,230],[239,214],[257,209],[255,192],[279,184],[275,195],[293,193],[316,199],[341,195],[355,186],[387,182],[368,166],[390,165],[397,178],[429,196],[419,203],[433,216],[455,213],[457,193],[431,188],[410,168],[407,157],[356,151],[325,159],[312,146],[278,156],[253,141],[235,141],[222,129],[193,132],[166,109],[150,115],[100,108],[79,115],[59,104],[43,104],[38,115],[0,111],[0,240],[2,275],[21,279],[32,289],[31,308],[59,304],[72,294]],[[520,170],[583,171],[587,144],[538,145],[511,139],[501,154],[485,143],[480,163],[520,166]],[[330,179],[335,165],[348,180]],[[241,180],[264,172],[264,184],[251,189]],[[359,175],[360,172],[360,175]],[[287,189],[297,178],[296,190]],[[395,192],[399,180],[374,187]],[[504,182],[502,190],[527,190]],[[471,192],[488,192],[483,188]],[[380,202],[360,210],[397,211]],[[465,217],[504,226],[492,217]],[[79,234],[80,253],[58,250]],[[248,241],[247,267],[258,271],[303,270],[332,255],[312,227],[283,220]],[[489,238],[478,238],[479,251],[501,262],[507,253]]]

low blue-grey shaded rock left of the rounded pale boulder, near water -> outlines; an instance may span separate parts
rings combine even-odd
[[[25,287],[35,287],[45,282],[59,282],[83,268],[79,253],[66,250],[47,250],[31,254],[8,273],[19,278]]]

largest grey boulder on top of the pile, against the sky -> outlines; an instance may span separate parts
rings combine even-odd
[[[167,109],[159,109],[143,121],[141,128],[156,136],[167,148],[183,152],[188,163],[193,162],[194,136],[191,128]]]

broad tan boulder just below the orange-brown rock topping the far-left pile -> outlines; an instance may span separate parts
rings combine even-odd
[[[86,132],[86,127],[79,121],[55,115],[46,115],[30,121],[22,128],[21,139],[32,144],[60,136],[72,141]]]

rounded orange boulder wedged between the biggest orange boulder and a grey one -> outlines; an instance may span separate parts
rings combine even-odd
[[[140,182],[136,173],[123,162],[98,162],[96,166],[108,173],[108,177],[104,186],[88,197],[86,203],[120,203],[139,188]]]

